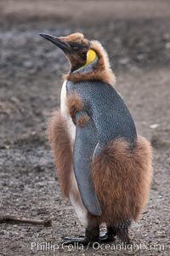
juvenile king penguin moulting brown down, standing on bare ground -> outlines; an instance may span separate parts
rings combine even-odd
[[[128,228],[139,218],[150,191],[152,153],[140,137],[115,75],[98,41],[82,33],[66,37],[40,34],[71,63],[61,89],[60,110],[48,124],[62,195],[69,198],[85,236],[67,243],[129,243]],[[105,223],[107,232],[99,232]],[[66,238],[65,238],[66,239]]]

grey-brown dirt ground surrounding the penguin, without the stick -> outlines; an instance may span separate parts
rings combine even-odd
[[[139,134],[153,145],[150,200],[130,229],[133,250],[114,248],[119,241],[57,247],[84,230],[61,199],[45,137],[69,66],[40,32],[98,39]],[[0,223],[0,255],[169,255],[170,2],[1,0],[0,45],[0,214],[53,218],[51,227]]]

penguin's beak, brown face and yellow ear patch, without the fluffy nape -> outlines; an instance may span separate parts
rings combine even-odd
[[[94,51],[90,49],[90,42],[84,38],[82,33],[73,33],[59,38],[48,34],[40,34],[40,36],[64,51],[71,62],[71,72],[88,65],[95,58]]]

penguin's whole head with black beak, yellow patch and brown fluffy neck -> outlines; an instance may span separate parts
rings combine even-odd
[[[111,70],[108,55],[99,41],[88,41],[82,33],[59,38],[48,34],[40,34],[40,36],[62,49],[71,62],[71,71],[65,79],[73,82],[100,80],[107,84],[115,84],[116,77]],[[89,67],[88,65],[90,68],[82,68]]]

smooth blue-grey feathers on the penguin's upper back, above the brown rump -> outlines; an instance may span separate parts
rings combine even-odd
[[[115,138],[124,138],[133,143],[136,128],[122,97],[103,82],[67,82],[68,93],[77,93],[82,100],[83,110],[94,121],[99,143],[108,143]]]

